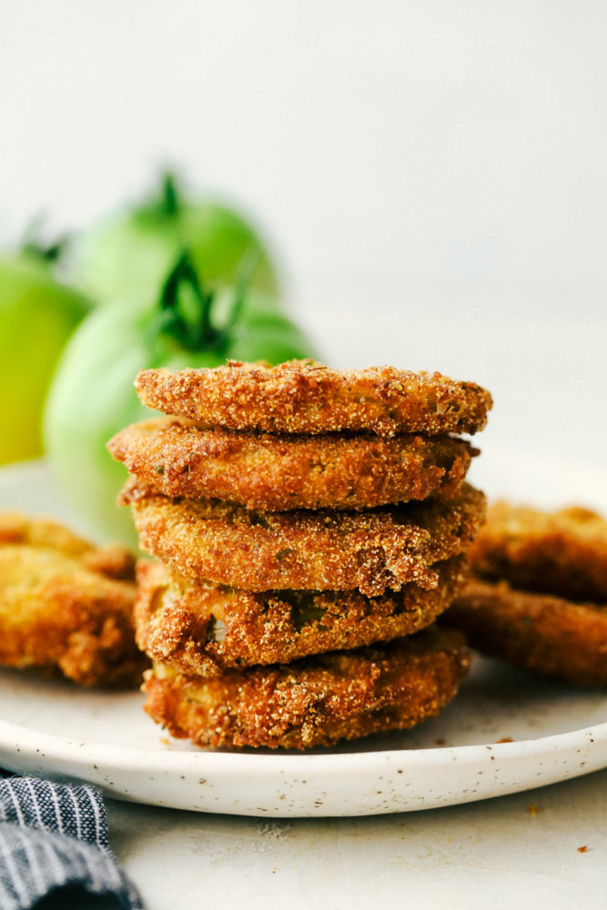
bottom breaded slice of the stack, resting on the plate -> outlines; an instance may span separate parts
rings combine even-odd
[[[146,711],[198,746],[309,749],[439,713],[468,672],[463,636],[431,629],[377,648],[202,678],[158,664]]]

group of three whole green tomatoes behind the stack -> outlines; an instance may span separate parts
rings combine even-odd
[[[106,441],[149,416],[133,387],[138,370],[314,352],[281,308],[256,228],[232,207],[183,197],[170,176],[156,197],[76,238],[71,263],[77,290],[50,261],[0,258],[0,463],[37,457],[44,422],[46,455],[82,523],[134,543],[130,516],[116,508],[126,471]]]

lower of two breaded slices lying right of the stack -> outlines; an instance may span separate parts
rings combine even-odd
[[[483,654],[564,682],[607,685],[607,605],[474,578],[441,622]]]

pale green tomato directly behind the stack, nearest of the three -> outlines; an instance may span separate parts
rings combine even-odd
[[[196,285],[194,272],[187,274]],[[150,416],[133,386],[138,370],[217,367],[226,359],[278,363],[312,353],[301,331],[258,291],[249,291],[232,321],[217,329],[208,317],[220,301],[197,293],[187,298],[184,290],[192,287],[183,286],[171,297],[167,288],[164,303],[150,307],[145,298],[129,299],[127,305],[92,313],[66,348],[46,406],[46,453],[66,499],[94,536],[131,546],[137,539],[130,513],[116,508],[126,469],[111,459],[106,442]],[[192,312],[201,299],[202,316]],[[224,300],[224,313],[228,309]]]

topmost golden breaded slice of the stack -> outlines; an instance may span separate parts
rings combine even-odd
[[[148,408],[207,427],[271,433],[474,433],[485,426],[492,403],[480,386],[440,373],[329,369],[312,360],[144,369],[135,386]]]

